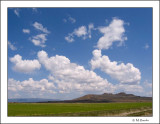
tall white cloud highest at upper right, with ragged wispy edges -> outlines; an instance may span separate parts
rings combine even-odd
[[[98,28],[99,31],[104,34],[97,43],[98,49],[109,49],[113,42],[118,41],[119,45],[122,45],[127,37],[124,37],[124,21],[114,18],[109,26],[103,26]]]

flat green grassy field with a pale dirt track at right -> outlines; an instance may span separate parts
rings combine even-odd
[[[8,116],[152,116],[152,103],[8,103]]]

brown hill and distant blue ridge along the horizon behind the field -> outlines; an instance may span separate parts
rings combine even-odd
[[[117,94],[103,93],[100,95],[88,94],[72,100],[58,100],[58,99],[42,99],[42,98],[22,98],[22,99],[8,99],[8,102],[18,103],[109,103],[109,102],[151,102],[152,97],[135,96],[133,94],[126,94],[120,92]]]

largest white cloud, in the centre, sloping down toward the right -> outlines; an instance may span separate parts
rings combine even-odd
[[[48,57],[45,51],[38,52],[41,64],[51,72],[50,80],[57,83],[59,92],[99,91],[111,92],[114,86],[95,72],[86,70],[83,66],[71,63],[65,56]]]

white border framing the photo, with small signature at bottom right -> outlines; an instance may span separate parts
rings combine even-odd
[[[152,7],[153,8],[153,116],[152,117],[8,117],[7,116],[7,8],[8,7]],[[1,123],[140,123],[159,122],[159,1],[1,1]],[[134,121],[134,123],[139,123]]]

